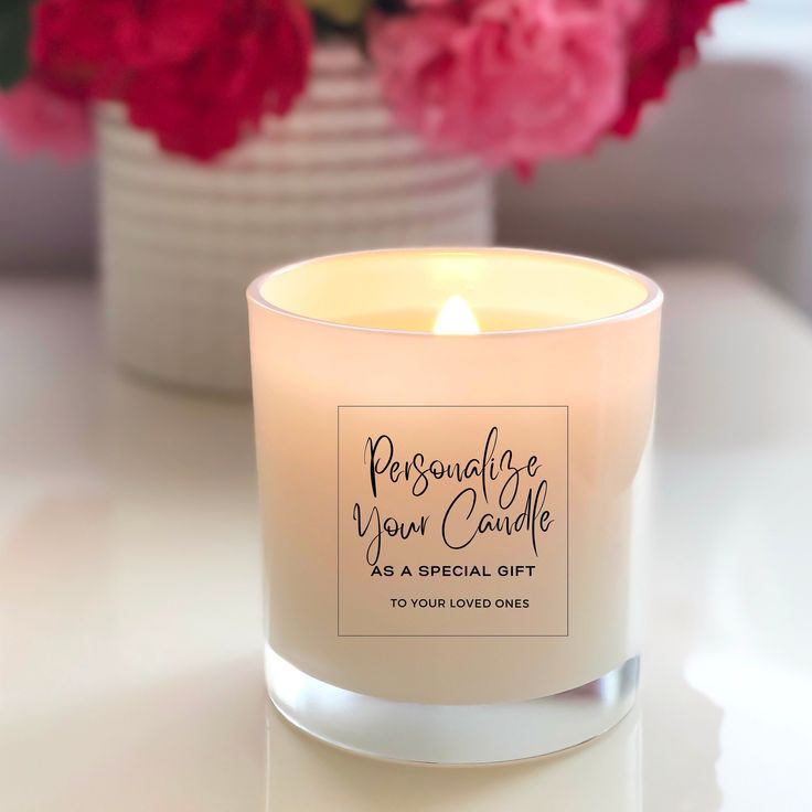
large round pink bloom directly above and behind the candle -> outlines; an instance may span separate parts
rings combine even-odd
[[[589,150],[620,114],[634,0],[416,0],[371,53],[397,119],[440,151],[527,170]]]

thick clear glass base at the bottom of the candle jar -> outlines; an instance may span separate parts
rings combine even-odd
[[[268,696],[293,725],[353,752],[437,765],[515,761],[595,738],[629,713],[638,674],[632,658],[586,685],[537,699],[424,705],[330,685],[265,647]]]

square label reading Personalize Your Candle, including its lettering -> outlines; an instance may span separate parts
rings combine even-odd
[[[338,634],[566,637],[566,406],[340,406]]]

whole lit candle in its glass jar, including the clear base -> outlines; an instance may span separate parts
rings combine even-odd
[[[364,252],[248,289],[266,679],[374,756],[527,758],[631,707],[662,295],[605,263]]]

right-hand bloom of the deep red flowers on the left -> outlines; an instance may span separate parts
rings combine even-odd
[[[165,150],[211,160],[265,113],[290,109],[304,89],[311,36],[299,2],[231,2],[190,60],[133,72],[124,94],[130,119]]]

